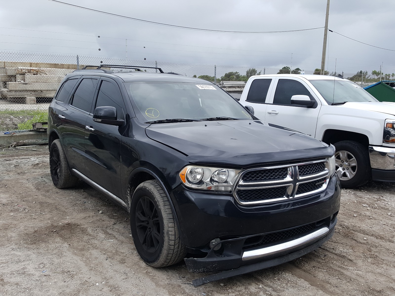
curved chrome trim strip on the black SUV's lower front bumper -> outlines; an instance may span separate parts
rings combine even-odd
[[[289,251],[296,247],[300,247],[310,242],[314,242],[315,240],[318,240],[319,238],[326,236],[328,233],[329,233],[329,228],[322,227],[314,232],[311,232],[309,234],[306,234],[305,236],[302,236],[300,238],[297,238],[289,242],[285,242],[278,245],[272,245],[270,247],[244,251],[242,260],[252,260],[269,255],[274,255],[284,251]]]

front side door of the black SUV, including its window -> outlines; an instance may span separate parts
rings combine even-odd
[[[102,77],[99,84],[92,113],[96,107],[111,106],[117,109],[117,117],[125,120],[126,108],[117,82]],[[126,126],[101,124],[94,121],[92,115],[88,116],[85,130],[85,165],[90,172],[89,178],[117,197],[122,197],[120,145]]]

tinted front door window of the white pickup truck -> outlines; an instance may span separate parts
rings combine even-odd
[[[291,105],[291,97],[294,95],[306,95],[312,101],[315,101],[314,97],[301,82],[292,79],[279,79],[273,104]]]

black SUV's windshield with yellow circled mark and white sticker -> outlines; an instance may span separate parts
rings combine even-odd
[[[214,84],[125,82],[125,86],[132,104],[140,111],[138,114],[135,110],[141,122],[175,118],[252,119],[237,101]]]

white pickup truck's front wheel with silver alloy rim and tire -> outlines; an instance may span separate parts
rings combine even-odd
[[[343,188],[360,187],[371,179],[369,152],[361,143],[340,141],[336,148],[336,173]]]

